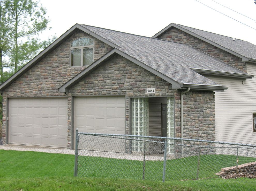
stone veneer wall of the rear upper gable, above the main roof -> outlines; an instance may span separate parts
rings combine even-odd
[[[158,38],[162,40],[168,40],[190,45],[214,58],[221,60],[222,62],[234,66],[239,70],[247,72],[246,63],[242,62],[242,58],[239,58],[233,54],[228,53],[225,50],[217,48],[216,46],[213,46],[208,42],[198,39],[192,36],[191,34],[188,34],[175,27],[171,27],[168,31],[166,31]]]

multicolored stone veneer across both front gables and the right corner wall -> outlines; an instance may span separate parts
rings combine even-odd
[[[85,67],[70,67],[70,41],[87,36],[77,32],[52,53],[4,90],[3,93],[3,142],[6,141],[6,99],[11,97],[67,97],[58,88]],[[93,38],[93,37],[92,37]],[[95,60],[106,54],[111,47],[94,38]],[[72,96],[76,95],[124,95],[126,97],[126,132],[129,133],[129,104],[131,97],[149,96],[146,88],[156,88],[150,96],[175,98],[175,132],[180,131],[180,90],[153,73],[116,55],[70,89],[68,94],[68,137],[71,148]],[[184,96],[184,137],[215,140],[214,92],[191,91]],[[180,151],[177,149],[177,153]]]

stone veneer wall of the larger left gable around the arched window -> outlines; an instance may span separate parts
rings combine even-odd
[[[70,42],[83,36],[94,39],[94,61],[112,49],[79,30],[6,88],[3,93],[3,143],[6,142],[6,98],[66,96],[59,93],[58,88],[86,68],[70,67]]]

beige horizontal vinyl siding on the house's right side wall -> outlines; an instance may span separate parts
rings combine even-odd
[[[256,65],[247,64],[247,72],[256,77]],[[256,134],[252,133],[252,113],[256,112],[256,78],[206,77],[229,87],[224,92],[215,92],[216,141],[256,144]]]

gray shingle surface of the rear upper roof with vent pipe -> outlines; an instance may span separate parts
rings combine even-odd
[[[186,30],[189,30],[201,37],[204,37],[210,41],[213,41],[229,50],[232,50],[242,56],[245,56],[247,58],[254,58],[256,59],[256,45],[244,41],[244,40],[240,40],[240,39],[235,39],[233,40],[233,38],[231,37],[227,37],[227,36],[223,36],[220,34],[216,34],[216,33],[212,33],[212,32],[207,32],[207,31],[203,31],[200,29],[195,29],[192,27],[187,27],[181,24],[176,24]]]

